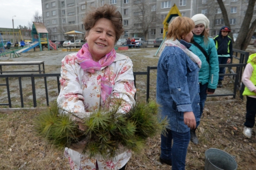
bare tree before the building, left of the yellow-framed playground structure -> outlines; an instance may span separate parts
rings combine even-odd
[[[150,28],[153,28],[153,23],[156,20],[156,14],[152,11],[152,6],[149,5],[148,0],[141,0],[136,6],[134,11],[136,11],[137,16],[134,17],[134,27],[137,31],[144,35],[147,40],[148,32]]]

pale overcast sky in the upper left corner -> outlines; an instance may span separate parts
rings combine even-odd
[[[14,28],[28,27],[36,11],[42,15],[41,0],[0,0],[0,28],[13,28],[13,19]]]

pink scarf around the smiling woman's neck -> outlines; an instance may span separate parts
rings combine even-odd
[[[84,44],[81,50],[76,54],[76,59],[78,64],[86,72],[94,73],[95,70],[100,70],[101,67],[111,65],[115,60],[116,52],[114,48],[106,54],[104,57],[100,58],[99,62],[95,62],[92,59],[91,53],[89,52],[88,44]],[[101,76],[101,99],[105,102],[112,92],[112,83],[106,80],[105,77]]]

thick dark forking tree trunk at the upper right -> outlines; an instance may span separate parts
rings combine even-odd
[[[224,6],[223,1],[217,0],[217,2],[219,4],[220,9],[222,10],[225,25],[230,28],[227,10]],[[249,45],[249,42],[251,40],[251,37],[254,33],[254,30],[256,28],[256,19],[252,18],[255,2],[256,2],[256,0],[249,0],[249,2],[248,2],[245,18],[243,19],[238,37],[236,39],[236,43],[234,45],[234,48],[236,48],[238,50],[246,50],[246,48]]]

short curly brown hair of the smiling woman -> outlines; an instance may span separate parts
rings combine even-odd
[[[85,14],[84,26],[86,35],[88,35],[90,29],[95,26],[95,23],[101,19],[106,18],[112,22],[112,27],[115,30],[115,43],[119,40],[123,33],[123,19],[117,7],[109,4],[104,4],[98,8],[91,7]]]

